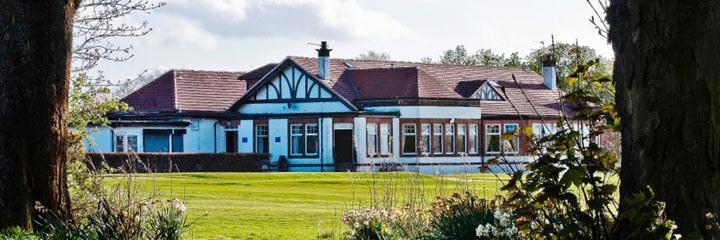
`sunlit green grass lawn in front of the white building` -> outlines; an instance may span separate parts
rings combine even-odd
[[[411,196],[427,203],[471,189],[492,198],[502,185],[492,174],[172,173],[137,179],[147,192],[186,201],[189,219],[199,218],[186,234],[194,239],[337,239],[346,209]]]

